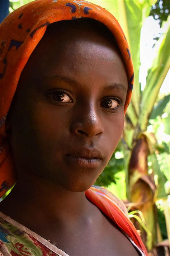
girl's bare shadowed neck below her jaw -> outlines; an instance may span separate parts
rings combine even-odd
[[[30,220],[60,224],[79,221],[88,216],[90,205],[85,192],[71,192],[36,174],[24,173],[24,178],[18,177],[13,191],[1,202],[0,210],[29,227]]]

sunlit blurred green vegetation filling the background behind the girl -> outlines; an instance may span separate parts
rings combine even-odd
[[[1,0],[9,12],[32,0]],[[150,255],[170,244],[169,0],[91,0],[111,12],[126,35],[134,89],[121,141],[96,185],[127,206]],[[3,12],[4,15],[5,12]],[[0,13],[1,20],[3,14]],[[163,85],[162,85],[163,84]],[[161,87],[162,86],[162,87]],[[163,90],[161,89],[163,88]]]

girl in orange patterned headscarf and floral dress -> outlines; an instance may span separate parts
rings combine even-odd
[[[91,188],[133,87],[117,20],[87,1],[37,0],[4,20],[0,42],[0,196],[17,180],[0,204],[1,255],[147,255],[122,202]]]

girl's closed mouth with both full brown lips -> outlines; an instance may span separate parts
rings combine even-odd
[[[99,150],[80,148],[79,150],[66,154],[65,159],[69,164],[79,165],[82,167],[97,167],[101,164],[103,156]]]

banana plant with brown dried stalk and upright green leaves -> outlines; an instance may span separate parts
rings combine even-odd
[[[132,31],[132,27],[134,31],[141,29],[140,26],[149,14],[151,4],[153,4],[153,1],[124,1],[129,31]],[[127,196],[130,201],[138,203],[137,208],[143,213],[147,228],[152,236],[147,233],[142,238],[148,250],[151,251],[157,242],[160,242],[160,230],[157,225],[155,206],[160,182],[156,184],[154,179],[159,170],[159,165],[154,164],[156,162],[154,153],[156,139],[154,134],[147,133],[147,126],[160,87],[169,69],[169,54],[167,51],[169,49],[170,30],[167,28],[166,33],[160,37],[155,46],[157,56],[148,70],[146,86],[143,91],[141,91],[141,85],[138,82],[140,47],[139,45],[138,49],[135,47],[137,44],[134,44],[135,38],[132,37],[132,35],[136,36],[137,34],[132,32],[129,35],[136,80],[134,81],[132,102],[126,115],[127,126],[123,134],[123,140],[126,142],[124,151],[126,155]],[[140,36],[138,39],[140,39]],[[153,171],[150,174],[148,173],[149,155],[151,155],[153,165]],[[161,173],[158,177],[162,177]],[[161,196],[166,198],[164,186],[161,186],[161,189]]]

